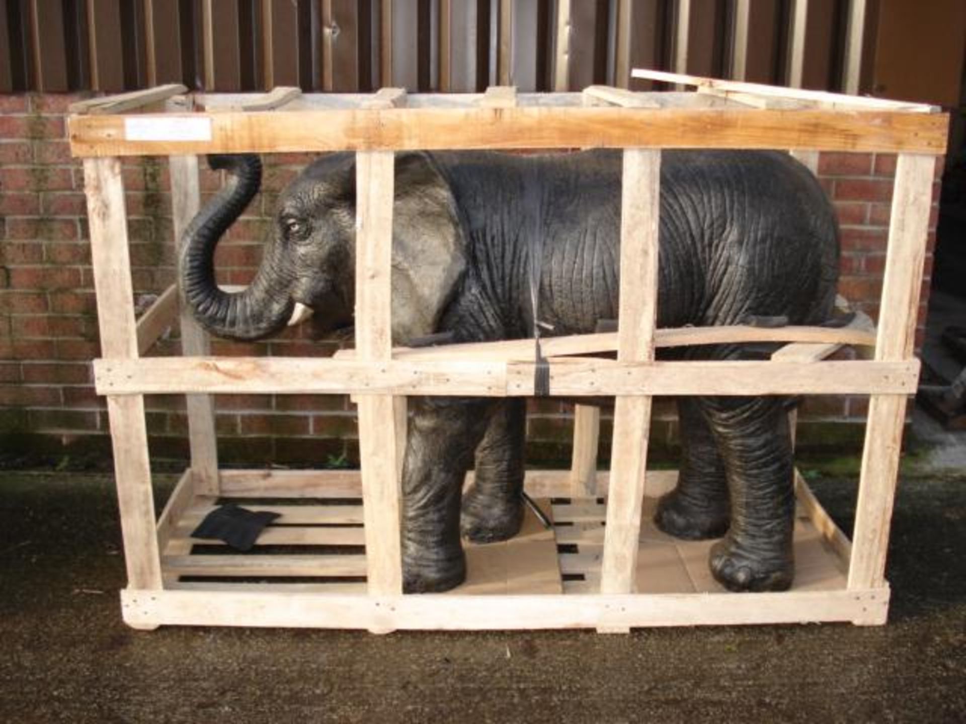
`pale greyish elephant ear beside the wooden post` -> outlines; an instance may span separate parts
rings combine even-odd
[[[406,345],[436,331],[467,268],[449,184],[425,153],[396,156],[392,222],[392,339]]]

